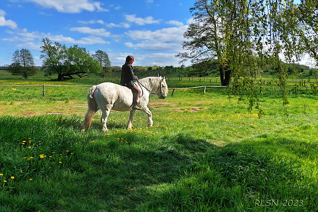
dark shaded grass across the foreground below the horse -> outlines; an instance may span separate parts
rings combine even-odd
[[[297,161],[256,145],[217,147],[189,134],[106,136],[74,130],[80,124],[76,117],[0,117],[0,164],[10,164],[0,171],[16,176],[1,192],[3,211],[261,211],[255,201],[272,199],[281,205],[270,210],[288,211],[288,198],[305,205],[293,211],[317,206],[317,191]],[[12,139],[6,131],[18,133]],[[25,138],[32,148],[18,145]],[[52,165],[55,156],[39,157],[53,149],[61,165]],[[32,163],[22,159],[26,154]]]

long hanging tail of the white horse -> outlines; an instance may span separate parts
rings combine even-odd
[[[96,104],[96,101],[94,99],[94,92],[96,89],[96,85],[92,86],[91,88],[89,88],[88,90],[88,94],[87,94],[87,104],[88,104],[88,109],[84,118],[84,122],[81,125],[81,129],[83,131],[88,130],[88,128],[90,127],[94,115],[95,113],[99,110],[98,105]]]

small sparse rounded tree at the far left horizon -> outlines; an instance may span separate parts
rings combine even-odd
[[[21,75],[25,79],[36,74],[33,56],[28,49],[15,50],[12,54],[12,63],[8,67],[14,75]]]

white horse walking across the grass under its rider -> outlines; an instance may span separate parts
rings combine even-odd
[[[164,99],[168,94],[168,86],[164,77],[146,77],[136,82],[141,91],[141,97],[138,101],[138,107],[148,115],[148,127],[153,126],[152,112],[147,107],[150,94],[158,95],[159,99]],[[132,121],[136,110],[132,110],[133,93],[130,88],[115,84],[112,82],[104,82],[94,85],[88,90],[87,94],[88,109],[85,115],[81,129],[86,131],[93,120],[94,114],[100,109],[102,111],[101,123],[103,131],[107,131],[107,118],[111,109],[116,111],[130,111],[127,129],[132,128]]]

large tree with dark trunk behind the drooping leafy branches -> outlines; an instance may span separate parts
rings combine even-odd
[[[253,3],[254,0],[197,0],[190,8],[194,22],[184,33],[186,40],[182,47],[187,52],[177,57],[181,62],[191,59],[193,64],[216,61],[221,85],[230,85],[231,74],[239,68],[236,65],[246,67],[242,62],[252,55],[250,11]]]

